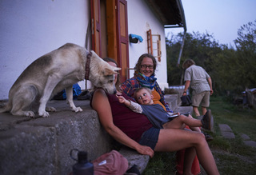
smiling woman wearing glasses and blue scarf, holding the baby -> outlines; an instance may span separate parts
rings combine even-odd
[[[154,96],[154,104],[162,105],[164,109],[166,109],[166,112],[173,113],[173,111],[169,108],[169,105],[165,101],[164,94],[162,93],[162,89],[158,85],[158,82],[156,81],[157,78],[155,78],[154,71],[156,70],[157,62],[153,55],[151,54],[142,54],[138,58],[138,62],[136,66],[134,67],[134,77],[126,80],[123,82],[121,86],[121,90],[123,93],[126,93],[129,97],[134,97],[134,92],[136,89],[139,89],[141,87],[147,87],[152,90],[152,94]],[[200,129],[198,129],[200,131]],[[184,155],[186,152],[186,155],[190,155],[188,159],[192,159],[193,165],[192,165],[192,173],[198,174],[200,173],[200,166],[198,164],[198,158],[195,157],[195,152],[188,153],[190,151],[186,151],[185,149],[182,149],[181,151],[178,151],[177,154],[177,174],[183,173],[183,160],[186,159],[186,155]],[[192,151],[193,152],[193,151]],[[185,156],[185,157],[184,157]],[[195,157],[195,158],[191,158]]]

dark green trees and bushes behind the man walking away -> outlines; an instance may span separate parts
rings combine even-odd
[[[214,93],[241,93],[256,87],[256,20],[241,26],[236,49],[218,44],[212,34],[186,34],[182,58],[177,66],[182,33],[166,38],[167,71],[169,85],[183,84],[182,62],[191,58],[202,66],[213,81]]]

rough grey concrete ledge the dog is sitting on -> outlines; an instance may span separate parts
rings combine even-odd
[[[18,117],[0,113],[0,174],[69,174],[75,161],[71,149],[88,152],[94,160],[112,148],[112,138],[100,125],[89,101],[50,101],[58,111],[50,117]]]

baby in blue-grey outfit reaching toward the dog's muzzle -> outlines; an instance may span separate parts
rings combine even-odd
[[[213,130],[214,121],[210,109],[207,110],[202,120],[195,119],[190,115],[186,117],[185,115],[180,115],[180,113],[178,113],[178,117],[171,117],[170,113],[167,113],[162,108],[162,105],[154,104],[151,90],[146,87],[139,88],[134,92],[134,99],[138,103],[126,100],[122,96],[117,97],[120,103],[124,103],[134,112],[146,115],[156,128],[183,129],[185,125],[188,125],[190,129],[196,131],[200,131],[198,127]]]

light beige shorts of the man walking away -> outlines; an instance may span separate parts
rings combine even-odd
[[[192,95],[192,105],[198,107],[201,103],[202,107],[209,107],[210,105],[210,91]]]

